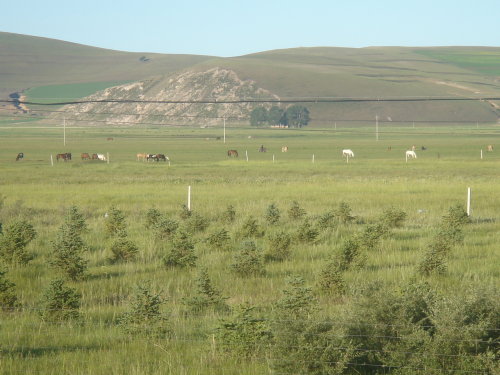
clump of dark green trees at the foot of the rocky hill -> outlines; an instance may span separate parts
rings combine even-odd
[[[310,116],[307,107],[299,104],[294,104],[286,110],[278,106],[255,107],[250,112],[250,125],[265,126],[265,125],[286,125],[293,128],[301,128],[309,124]]]

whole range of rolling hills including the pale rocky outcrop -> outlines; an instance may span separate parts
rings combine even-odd
[[[16,39],[22,43],[14,43]],[[10,42],[5,44],[6,40]],[[0,77],[8,77],[0,78],[1,87],[85,82],[117,85],[104,87],[104,91],[97,93],[89,92],[95,100],[255,99],[262,98],[263,93],[281,99],[500,97],[500,48],[491,47],[318,47],[214,58],[108,51],[5,33],[0,34],[0,51],[5,51],[4,45],[10,46],[7,48],[10,52],[0,52],[2,70],[7,73]],[[61,48],[57,48],[58,45]],[[58,52],[54,56],[44,55],[45,60],[42,59],[38,69],[33,56],[50,50]],[[4,65],[4,61],[10,61],[10,65]],[[58,72],[51,62],[59,64]],[[26,74],[21,74],[19,67]],[[126,89],[132,82],[138,82],[134,86],[140,88],[138,91]],[[196,90],[195,85],[199,85]],[[71,85],[65,86],[63,91],[67,97],[72,97],[71,89]],[[81,96],[84,94],[73,97]],[[43,99],[43,95],[38,99]],[[486,100],[312,103],[307,106],[312,124],[319,126],[328,126],[334,121],[366,123],[375,116],[388,122],[498,122],[500,118],[500,102]],[[67,111],[66,118],[82,123],[92,120],[95,124],[117,123],[126,119],[131,124],[204,125],[210,124],[211,118],[222,116],[245,122],[251,107],[181,104],[134,107],[108,103],[61,110]],[[54,120],[60,116],[51,117]]]

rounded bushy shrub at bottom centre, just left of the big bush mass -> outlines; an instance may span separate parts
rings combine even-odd
[[[255,307],[238,306],[234,315],[217,328],[219,348],[236,358],[251,359],[264,355],[272,342],[268,321],[255,316]]]

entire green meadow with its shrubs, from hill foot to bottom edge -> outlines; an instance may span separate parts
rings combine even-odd
[[[493,375],[500,128],[374,130],[68,127],[64,146],[61,126],[3,120],[0,238],[14,222],[36,236],[25,262],[0,240],[0,296],[16,296],[0,373]],[[54,261],[71,207],[81,277]],[[55,279],[73,309],[47,303]]]

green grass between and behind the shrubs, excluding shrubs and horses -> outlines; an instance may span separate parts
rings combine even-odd
[[[214,335],[227,314],[186,313],[183,300],[193,295],[197,269],[208,269],[230,307],[249,303],[268,314],[290,275],[300,275],[313,287],[342,241],[361,233],[389,207],[406,212],[403,227],[366,253],[364,267],[345,272],[347,292],[342,298],[317,296],[322,317],[349,321],[349,309],[359,290],[372,283],[395,290],[416,277],[450,298],[465,295],[471,287],[499,285],[500,131],[494,124],[381,125],[378,141],[373,127],[366,126],[336,130],[228,127],[225,144],[217,139],[222,137],[221,128],[68,127],[66,137],[64,146],[61,127],[0,123],[0,194],[4,198],[0,222],[5,228],[16,219],[26,219],[38,232],[28,247],[35,258],[26,266],[6,266],[6,277],[16,284],[22,307],[0,312],[1,373],[282,373],[271,369],[267,355],[244,359],[221,353]],[[486,152],[489,144],[494,145],[493,152]],[[258,152],[261,145],[266,153]],[[283,145],[289,147],[287,153],[281,152]],[[412,145],[417,147],[418,159],[406,162],[404,152]],[[420,150],[421,146],[426,150]],[[348,163],[341,156],[344,148],[355,153]],[[238,150],[239,157],[228,158],[228,149]],[[24,152],[25,158],[16,162],[18,152]],[[71,152],[73,160],[54,159],[52,166],[50,156],[63,152]],[[80,160],[82,152],[109,153],[110,162]],[[137,161],[136,154],[143,152],[164,153],[170,163]],[[156,208],[182,222],[179,214],[181,205],[187,203],[188,186],[192,187],[193,211],[207,218],[209,226],[192,234],[197,266],[169,268],[162,263],[169,243],[155,240],[145,228],[146,212]],[[467,187],[473,191],[473,213],[472,223],[464,228],[464,242],[453,248],[446,273],[418,275],[416,268],[439,222],[450,206],[465,205]],[[241,242],[236,233],[243,222],[253,216],[262,225],[266,236],[254,241],[265,251],[269,234],[279,230],[293,234],[299,229],[300,224],[286,214],[293,201],[299,202],[314,224],[340,202],[350,205],[356,220],[320,231],[312,244],[294,240],[290,258],[266,262],[263,275],[235,275],[231,264]],[[266,224],[264,219],[271,203],[282,212],[278,225]],[[41,295],[57,276],[47,261],[71,205],[84,213],[89,227],[83,235],[89,246],[85,253],[89,276],[68,282],[82,293],[82,322],[49,324],[38,316]],[[236,220],[225,224],[220,217],[228,205],[234,206]],[[129,238],[139,248],[133,261],[109,261],[111,240],[104,233],[104,216],[111,206],[123,211]],[[213,250],[205,242],[208,234],[221,228],[231,237],[229,250]],[[169,338],[130,336],[116,324],[129,308],[134,286],[143,280],[150,280],[167,298],[164,309],[173,326]],[[363,369],[370,374],[379,370]],[[348,366],[345,373],[359,373],[359,368]],[[411,373],[425,372],[413,368]]]

